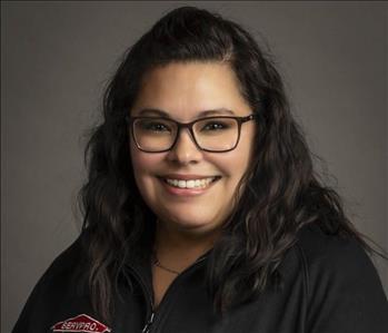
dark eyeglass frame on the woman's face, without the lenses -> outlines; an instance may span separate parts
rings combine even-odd
[[[129,115],[126,115],[126,121],[128,124],[128,126],[130,126],[130,129],[131,129],[131,133],[132,133],[132,138],[133,138],[133,141],[136,144],[136,146],[138,147],[139,150],[141,151],[145,151],[145,153],[149,153],[149,154],[153,154],[153,153],[166,153],[166,151],[169,151],[173,148],[173,146],[177,144],[178,141],[178,138],[179,138],[179,135],[180,135],[180,130],[182,128],[188,128],[189,129],[189,133],[190,133],[190,136],[192,138],[192,141],[195,143],[196,147],[199,149],[199,150],[202,150],[202,151],[208,151],[208,153],[227,153],[227,151],[231,151],[233,149],[236,149],[236,147],[238,146],[239,141],[240,141],[240,136],[241,136],[241,125],[247,123],[247,121],[250,121],[250,120],[253,120],[255,118],[257,117],[257,115],[255,114],[250,114],[248,116],[245,116],[245,117],[237,117],[237,116],[211,116],[211,117],[203,117],[203,118],[198,118],[193,121],[189,121],[189,123],[180,123],[180,121],[177,121],[175,119],[171,119],[171,118],[167,118],[167,117],[131,117]],[[199,144],[197,143],[197,139],[196,139],[196,135],[193,133],[193,125],[198,121],[201,121],[201,120],[206,120],[206,119],[219,119],[219,118],[227,118],[227,119],[235,119],[238,124],[238,136],[237,136],[237,140],[236,140],[236,144],[232,148],[229,148],[229,149],[226,149],[226,150],[211,150],[211,149],[205,149],[202,147],[199,146]],[[142,149],[136,137],[135,137],[135,127],[133,127],[133,124],[137,119],[165,119],[165,120],[169,120],[169,121],[172,121],[177,125],[177,134],[176,134],[176,138],[173,140],[173,143],[171,144],[171,146],[168,148],[168,149],[163,149],[163,150],[157,150],[157,151],[149,151],[149,150],[146,150],[146,149]]]

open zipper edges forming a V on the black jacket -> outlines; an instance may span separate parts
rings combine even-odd
[[[205,259],[207,258],[207,254],[208,254],[208,253],[206,253],[205,255],[202,255],[201,257],[199,257],[195,263],[192,263],[191,266],[189,266],[188,268],[186,268],[182,273],[180,273],[180,274],[176,277],[176,280],[175,280],[175,281],[171,283],[171,285],[167,288],[167,291],[166,291],[166,293],[165,293],[165,296],[163,296],[163,298],[161,300],[161,302],[160,302],[160,304],[159,304],[157,311],[155,311],[153,300],[152,300],[152,297],[151,297],[151,295],[150,295],[150,293],[149,293],[149,291],[148,291],[146,284],[143,283],[143,281],[142,281],[140,274],[139,274],[133,267],[129,266],[130,270],[132,271],[133,275],[137,277],[137,280],[138,280],[138,282],[139,282],[141,288],[143,290],[143,293],[146,294],[146,297],[148,298],[149,305],[150,305],[150,307],[151,307],[151,310],[149,310],[149,307],[148,307],[148,310],[147,310],[147,312],[148,312],[148,313],[147,313],[147,319],[148,319],[148,320],[147,320],[145,326],[142,327],[141,333],[149,333],[149,332],[151,332],[151,331],[150,331],[150,330],[151,330],[151,326],[152,326],[152,324],[155,325],[155,317],[156,317],[156,315],[160,314],[160,308],[162,308],[162,305],[166,303],[166,298],[167,298],[166,296],[168,296],[168,294],[171,293],[171,288],[173,288],[173,286],[177,285],[177,281],[179,281],[183,275],[186,275],[188,272],[192,271],[195,267],[198,266],[199,263],[201,263],[202,261],[205,261]],[[151,311],[151,312],[149,313],[149,311]],[[159,315],[158,315],[158,316],[159,316]],[[152,330],[152,331],[153,331],[153,330]]]

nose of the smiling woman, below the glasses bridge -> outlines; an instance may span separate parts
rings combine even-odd
[[[168,159],[182,165],[198,163],[202,158],[200,150],[188,128],[182,128],[178,135],[177,141],[168,154]]]

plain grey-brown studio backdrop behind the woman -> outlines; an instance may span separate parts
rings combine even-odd
[[[387,249],[386,3],[1,2],[1,332],[79,233],[82,135],[99,120],[118,60],[183,4],[268,41],[311,150],[338,179],[330,184],[358,229]],[[388,291],[388,265],[375,263]]]

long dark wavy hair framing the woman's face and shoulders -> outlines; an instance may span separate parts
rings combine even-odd
[[[301,226],[362,239],[335,189],[312,167],[301,128],[268,51],[241,26],[217,13],[181,7],[162,17],[126,53],[103,96],[103,121],[86,147],[88,179],[79,193],[90,236],[88,281],[94,310],[109,321],[126,258],[153,239],[156,216],[136,186],[126,115],[145,72],[171,62],[223,61],[257,115],[253,158],[236,193],[235,209],[210,253],[207,285],[221,313],[267,285],[281,285],[278,266]]]

